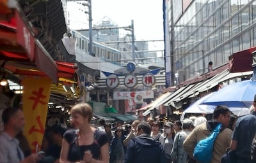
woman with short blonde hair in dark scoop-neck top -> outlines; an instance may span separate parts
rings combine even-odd
[[[70,110],[70,129],[63,135],[60,162],[109,162],[109,143],[106,132],[92,127],[92,107],[79,103]]]

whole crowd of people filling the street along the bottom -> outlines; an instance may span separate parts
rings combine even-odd
[[[236,117],[226,106],[217,106],[212,118],[189,117],[160,122],[148,118],[115,126],[104,119],[91,124],[89,104],[76,104],[71,110],[72,129],[54,124],[45,131],[41,151],[31,153],[22,134],[25,125],[20,108],[6,108],[0,134],[0,162],[38,163],[193,163],[196,144],[207,138],[218,124],[210,163],[253,163],[251,146],[256,133],[256,96],[250,115]],[[25,144],[25,145],[24,145]],[[232,151],[232,158],[227,155]],[[234,157],[233,157],[234,156]]]

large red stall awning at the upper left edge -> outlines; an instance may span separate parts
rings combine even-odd
[[[0,61],[5,61],[4,68],[22,65],[20,70],[40,71],[58,83],[58,65],[36,39],[36,31],[18,4],[10,20],[0,20],[0,27]]]

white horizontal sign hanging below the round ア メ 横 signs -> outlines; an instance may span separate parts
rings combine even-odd
[[[154,92],[152,90],[147,91],[136,91],[136,92],[113,92],[114,100],[122,100],[122,99],[152,99],[154,98]]]

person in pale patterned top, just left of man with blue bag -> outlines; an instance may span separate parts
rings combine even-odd
[[[183,142],[189,133],[194,129],[194,124],[189,118],[182,120],[181,124],[182,131],[175,135],[171,152],[171,159],[176,160],[176,163],[185,163],[188,162],[188,160],[192,161],[191,159],[188,159],[188,154],[183,148]]]

